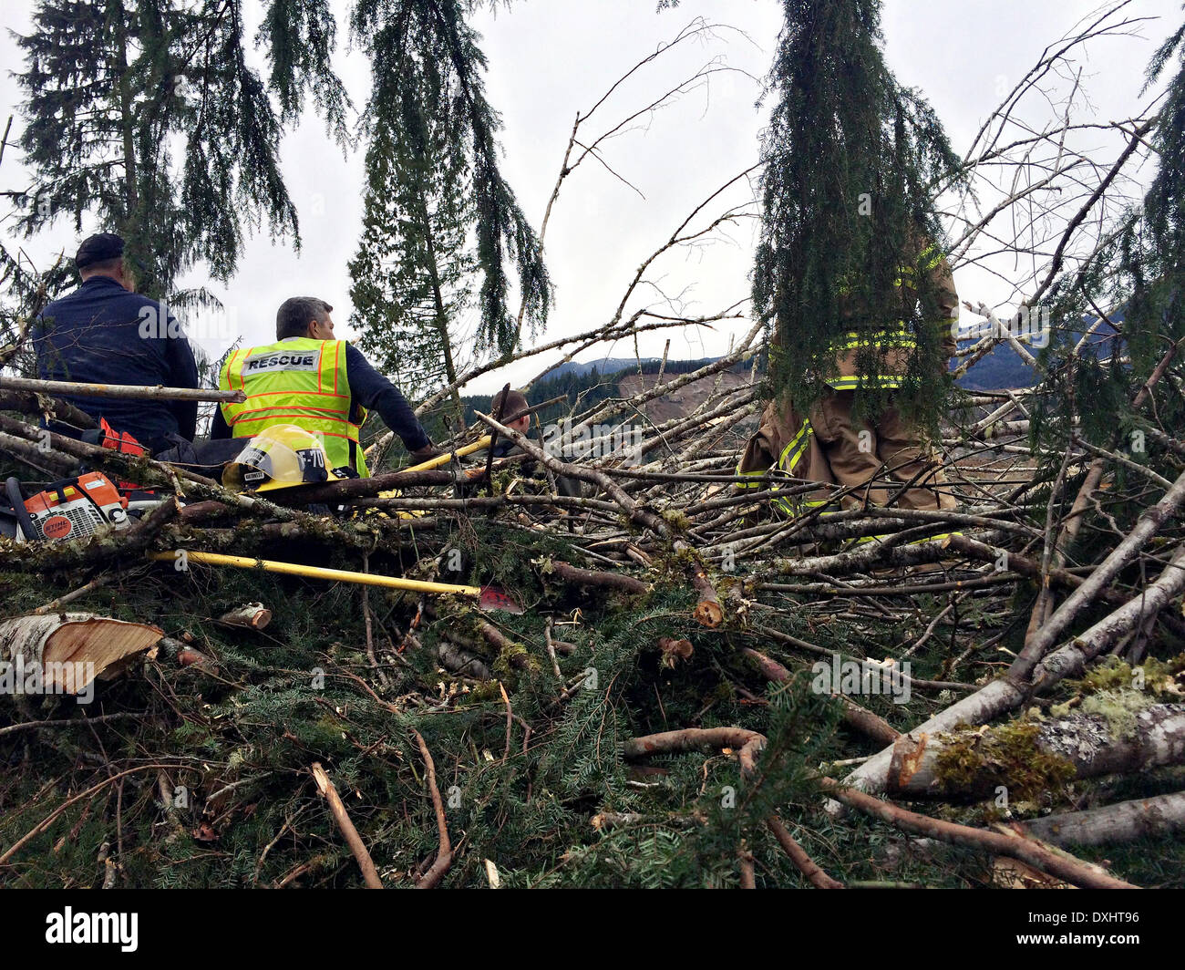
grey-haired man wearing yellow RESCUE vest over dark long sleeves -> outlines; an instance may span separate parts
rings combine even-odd
[[[325,442],[331,468],[367,477],[358,433],[367,408],[379,413],[416,461],[440,454],[406,398],[370,365],[361,351],[333,337],[333,309],[315,296],[284,300],[276,342],[235,351],[218,375],[222,390],[246,400],[223,403],[211,439],[249,438],[275,425],[295,425]]]

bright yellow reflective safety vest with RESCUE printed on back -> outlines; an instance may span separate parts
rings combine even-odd
[[[289,337],[236,350],[218,375],[220,390],[242,390],[242,403],[222,404],[235,438],[273,425],[295,425],[325,442],[331,468],[348,465],[370,476],[358,433],[366,409],[353,407],[346,376],[346,342]]]

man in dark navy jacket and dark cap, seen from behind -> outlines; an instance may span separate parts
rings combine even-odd
[[[82,286],[55,300],[33,325],[37,371],[46,381],[197,388],[198,366],[190,342],[168,309],[135,292],[123,260],[123,240],[100,232],[84,240],[75,256]],[[105,417],[152,452],[167,448],[171,435],[192,439],[196,401],[127,401],[114,397],[63,400],[96,422]],[[53,430],[77,436],[55,423]]]

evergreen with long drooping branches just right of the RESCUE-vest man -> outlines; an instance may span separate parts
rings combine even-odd
[[[356,323],[412,393],[455,379],[455,323],[474,305],[468,351],[514,350],[508,268],[532,331],[551,305],[542,245],[499,170],[501,122],[486,101],[480,38],[466,23],[476,6],[359,0],[352,20],[374,79],[364,230],[351,263]]]

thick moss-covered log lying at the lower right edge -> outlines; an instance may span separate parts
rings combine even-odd
[[[1012,798],[1057,780],[1122,774],[1185,764],[1185,704],[1153,704],[1129,730],[1101,714],[1013,722],[949,734],[904,734],[892,748],[889,793],[979,799],[1000,786]],[[1020,791],[1018,791],[1020,789]]]

